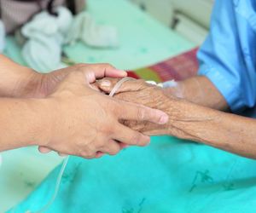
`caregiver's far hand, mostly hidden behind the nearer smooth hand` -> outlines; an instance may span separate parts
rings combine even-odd
[[[19,69],[20,78],[16,81],[15,89],[13,89],[9,96],[19,98],[44,98],[51,94],[55,87],[61,83],[70,72],[77,72],[87,66],[90,67],[88,64],[78,64],[47,74],[35,72],[24,66],[15,66],[15,69]],[[105,70],[106,77],[123,78],[127,75],[126,72],[120,71],[108,64],[96,64],[93,67],[95,69]]]

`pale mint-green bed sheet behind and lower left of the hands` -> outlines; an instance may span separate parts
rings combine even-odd
[[[78,63],[108,62],[121,69],[134,70],[195,47],[195,43],[173,32],[128,1],[87,2],[88,11],[96,18],[97,23],[119,29],[119,48],[91,49],[82,43],[65,47],[67,56]],[[8,37],[5,55],[26,64],[13,37]],[[62,160],[55,153],[38,153],[37,147],[20,148],[1,154],[3,165],[0,167],[0,212],[25,199]]]

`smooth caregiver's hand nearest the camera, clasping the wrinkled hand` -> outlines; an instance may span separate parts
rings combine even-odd
[[[99,157],[99,152],[116,154],[121,146],[145,146],[148,136],[120,124],[121,120],[166,124],[168,116],[159,110],[118,101],[93,89],[90,83],[109,75],[108,69],[82,66],[70,72],[55,92],[46,97],[51,125],[49,140],[43,147],[84,158]],[[100,155],[101,155],[100,153]]]

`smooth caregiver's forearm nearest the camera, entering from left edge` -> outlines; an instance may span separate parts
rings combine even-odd
[[[44,100],[0,99],[0,152],[43,145],[50,131],[50,115]]]

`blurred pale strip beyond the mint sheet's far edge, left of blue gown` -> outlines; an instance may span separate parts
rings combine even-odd
[[[210,24],[214,0],[131,0],[164,25],[200,45]]]

